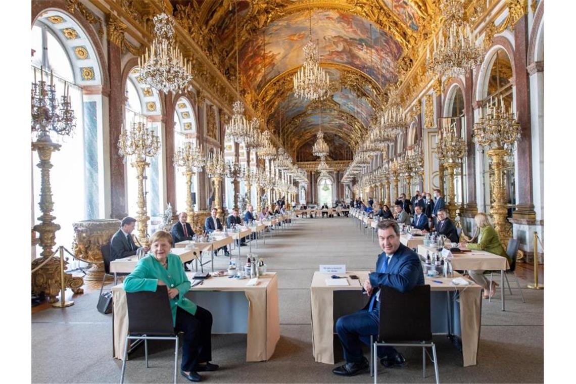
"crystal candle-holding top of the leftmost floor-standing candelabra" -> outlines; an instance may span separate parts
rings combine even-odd
[[[40,81],[36,82],[36,68],[34,69],[34,82],[32,83],[32,132],[36,132],[37,139],[50,140],[50,131],[58,135],[70,136],[76,127],[74,111],[71,108],[69,87],[64,84],[64,92],[60,101],[56,97],[52,72],[50,84],[48,75],[44,81],[44,70],[40,67]]]

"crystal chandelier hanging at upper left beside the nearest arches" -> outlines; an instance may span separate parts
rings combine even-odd
[[[154,16],[154,40],[150,51],[138,58],[140,76],[147,85],[164,93],[190,90],[192,64],[176,45],[174,20],[165,13]]]

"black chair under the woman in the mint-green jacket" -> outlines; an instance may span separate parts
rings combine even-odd
[[[172,311],[168,298],[168,288],[159,286],[156,292],[126,292],[128,306],[128,334],[124,345],[124,360],[120,383],[124,382],[128,340],[144,340],[144,356],[148,367],[148,340],[174,340],[174,382],[178,368],[178,334],[174,330]]]

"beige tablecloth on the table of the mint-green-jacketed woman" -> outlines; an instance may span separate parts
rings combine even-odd
[[[278,311],[278,277],[268,272],[259,277],[254,287],[247,287],[247,279],[233,280],[214,277],[204,280],[194,291],[244,291],[248,299],[248,334],[246,361],[261,362],[271,358],[280,339],[280,317]],[[123,359],[124,343],[128,333],[126,291],[123,284],[112,288],[113,292],[113,357]],[[210,310],[210,308],[206,308]]]

